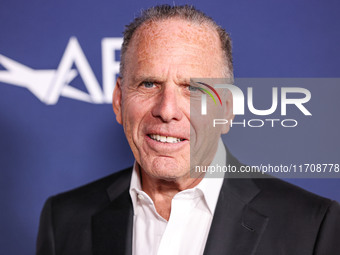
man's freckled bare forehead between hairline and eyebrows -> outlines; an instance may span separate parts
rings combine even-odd
[[[162,66],[171,65],[184,72],[198,67],[221,69],[222,56],[218,34],[208,24],[168,19],[149,21],[138,28],[127,50],[125,63],[129,73],[145,72],[157,66],[160,71]],[[145,66],[148,69],[141,70]]]

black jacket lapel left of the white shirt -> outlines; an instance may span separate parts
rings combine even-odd
[[[92,217],[94,255],[132,254],[133,208],[129,194],[131,174],[107,190],[110,203]]]

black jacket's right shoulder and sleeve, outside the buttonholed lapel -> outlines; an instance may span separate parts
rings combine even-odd
[[[276,178],[253,181],[260,192],[250,206],[268,217],[260,251],[283,245],[287,254],[339,254],[339,246],[335,249],[335,236],[340,234],[336,201]]]

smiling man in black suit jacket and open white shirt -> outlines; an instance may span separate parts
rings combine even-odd
[[[157,6],[127,26],[113,94],[136,159],[46,202],[37,254],[340,254],[340,206],[277,179],[190,176],[240,163],[193,118],[190,78],[232,79],[231,43],[189,6]],[[232,119],[230,93],[214,116]],[[191,154],[191,157],[190,157]]]

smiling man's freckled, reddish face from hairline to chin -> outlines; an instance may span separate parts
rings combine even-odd
[[[190,149],[197,151],[201,162],[196,164],[210,164],[222,129],[190,119],[190,78],[222,77],[224,70],[218,35],[206,25],[173,19],[136,31],[113,108],[135,159],[149,176],[188,176]]]

